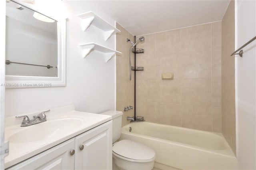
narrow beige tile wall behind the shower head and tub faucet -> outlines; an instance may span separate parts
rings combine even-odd
[[[116,23],[116,28],[121,31],[116,34],[116,50],[122,52],[121,55],[116,55],[116,109],[124,113],[122,117],[122,126],[124,126],[130,123],[126,117],[134,116],[134,109],[124,112],[124,107],[134,106],[134,71],[132,71],[132,80],[130,81],[128,69],[131,43],[126,42],[126,38],[134,42],[134,36],[118,23]],[[131,54],[131,62],[134,66],[134,53]]]

